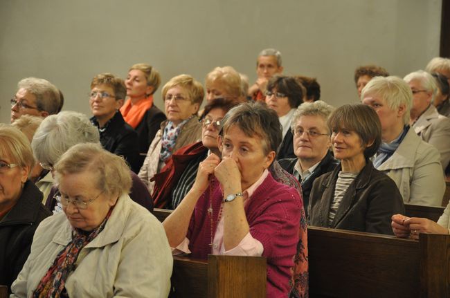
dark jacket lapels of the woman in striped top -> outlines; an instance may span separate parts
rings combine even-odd
[[[349,212],[351,207],[354,205],[354,200],[356,198],[356,193],[358,189],[364,189],[368,186],[368,183],[370,182],[370,178],[372,176],[372,169],[373,165],[370,160],[366,160],[366,165],[361,169],[358,176],[354,178],[353,183],[348,187],[347,191],[345,192],[341,204],[339,205],[339,208],[337,209],[336,215],[334,216],[334,220],[332,222],[331,227],[336,227],[338,223],[341,221],[343,216]],[[336,187],[336,181],[338,178],[339,171],[341,171],[341,165],[336,166],[336,169],[332,171],[332,173],[327,176],[325,180],[323,180],[322,186],[324,187],[324,192],[322,195],[322,199],[319,204],[321,214],[321,222],[324,227],[328,226],[328,217],[330,214],[330,207],[332,200],[334,198],[334,189]]]

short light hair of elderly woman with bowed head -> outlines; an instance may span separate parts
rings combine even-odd
[[[132,187],[127,162],[93,143],[78,144],[67,150],[55,165],[55,180],[58,183],[62,176],[84,171],[96,176],[96,187],[107,196],[128,194]]]

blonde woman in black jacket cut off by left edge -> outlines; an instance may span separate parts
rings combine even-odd
[[[0,284],[10,286],[30,253],[37,225],[51,215],[29,180],[35,164],[19,129],[0,124]]]

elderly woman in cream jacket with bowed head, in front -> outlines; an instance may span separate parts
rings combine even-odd
[[[168,240],[129,198],[123,158],[75,145],[55,165],[55,180],[64,213],[39,225],[11,297],[167,297]]]

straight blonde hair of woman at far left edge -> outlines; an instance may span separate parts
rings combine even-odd
[[[12,163],[20,167],[33,169],[35,158],[31,151],[30,141],[19,129],[0,123],[0,156],[8,156]]]

